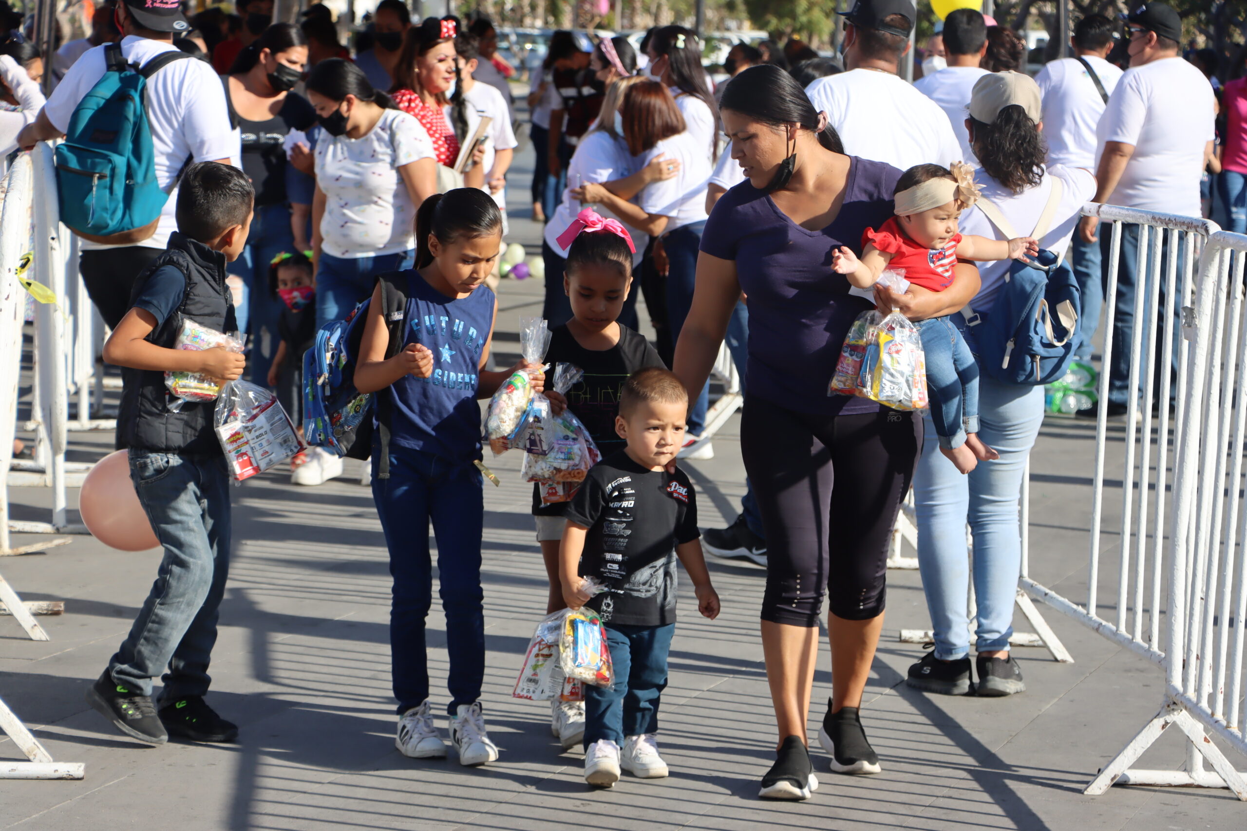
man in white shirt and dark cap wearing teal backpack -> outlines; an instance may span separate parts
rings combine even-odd
[[[122,55],[140,66],[163,52],[177,51],[173,34],[191,29],[177,0],[123,0],[117,5],[117,24],[123,35]],[[35,122],[19,133],[19,147],[29,150],[36,142],[65,135],[79,102],[104,77],[105,49],[107,45],[86,51],[70,67]],[[135,279],[165,250],[170,233],[177,229],[178,173],[190,162],[229,164],[238,150],[221,78],[203,61],[178,60],[165,66],[148,78],[145,95],[156,181],[170,194],[156,233],[132,245],[80,240],[82,280],[91,302],[112,328],[126,314]]]

